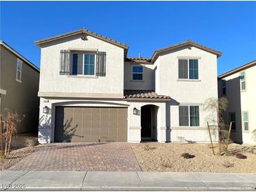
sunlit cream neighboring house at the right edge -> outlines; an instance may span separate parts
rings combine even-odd
[[[229,102],[224,114],[232,123],[231,139],[237,143],[256,144],[256,60],[218,77],[219,97]]]

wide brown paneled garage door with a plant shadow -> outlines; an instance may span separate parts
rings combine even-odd
[[[127,108],[56,107],[55,142],[127,142]]]

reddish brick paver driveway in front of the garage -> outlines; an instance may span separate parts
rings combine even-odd
[[[128,143],[54,143],[8,170],[141,171]]]

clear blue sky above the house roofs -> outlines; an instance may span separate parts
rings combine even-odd
[[[34,41],[81,27],[130,46],[128,56],[191,39],[222,51],[218,74],[256,60],[256,1],[0,1],[0,39],[39,66]]]

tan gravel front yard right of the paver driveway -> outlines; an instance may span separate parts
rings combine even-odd
[[[147,172],[256,173],[256,154],[252,153],[252,148],[238,144],[229,145],[229,156],[213,156],[209,144],[144,143],[132,148],[140,167]],[[218,149],[215,151],[217,153]],[[182,153],[195,157],[186,159]],[[236,153],[242,153],[247,159],[236,158]]]

